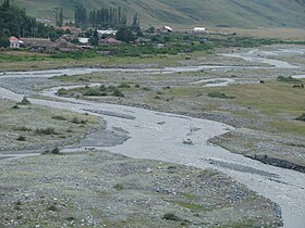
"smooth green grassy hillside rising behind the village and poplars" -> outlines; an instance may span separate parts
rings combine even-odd
[[[52,18],[63,8],[73,21],[74,5],[88,10],[121,5],[130,15],[137,12],[142,25],[305,27],[305,0],[14,0],[29,15]]]

